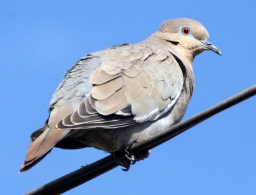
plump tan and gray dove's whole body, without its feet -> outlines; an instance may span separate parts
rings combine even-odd
[[[82,58],[54,93],[20,171],[54,146],[115,152],[179,122],[193,93],[193,59],[205,50],[221,54],[208,38],[200,22],[166,20],[143,42]]]

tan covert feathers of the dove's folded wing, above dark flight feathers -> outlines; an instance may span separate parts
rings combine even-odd
[[[131,105],[136,121],[156,120],[181,91],[183,78],[179,63],[161,45],[138,43],[109,49],[102,55],[102,61],[106,63],[91,76],[93,105],[100,114],[113,114]]]

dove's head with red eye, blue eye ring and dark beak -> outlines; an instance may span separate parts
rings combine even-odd
[[[209,40],[207,29],[193,19],[165,20],[157,31],[158,38],[177,53],[191,61],[203,51],[211,50],[221,56],[221,51]]]

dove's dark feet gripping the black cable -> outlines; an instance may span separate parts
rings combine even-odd
[[[123,171],[128,171],[131,167],[131,164],[135,164],[137,161],[146,159],[150,154],[150,150],[144,150],[131,155],[128,150],[129,148],[125,148],[125,158],[123,159],[122,154],[124,154],[124,151],[118,151],[113,153],[116,164],[124,167],[124,169],[122,169]]]

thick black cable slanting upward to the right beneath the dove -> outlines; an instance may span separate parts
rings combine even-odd
[[[206,109],[202,113],[196,114],[195,116],[192,116],[187,120],[173,125],[163,134],[157,134],[145,140],[144,142],[134,144],[131,147],[130,152],[136,153],[141,150],[150,150],[158,146],[159,144],[162,144],[165,141],[168,141],[169,139],[172,139],[173,137],[181,134],[182,132],[197,125],[198,123],[206,120],[207,118],[210,118],[214,114],[220,113],[221,111],[232,107],[233,105],[236,105],[239,102],[242,102],[243,100],[252,97],[253,95],[256,95],[256,84],[224,100],[223,102],[220,102],[219,104],[216,104],[209,109]],[[120,155],[120,159],[124,158],[125,153],[122,153]],[[61,178],[49,182],[42,187],[39,187],[38,189],[35,189],[34,191],[28,192],[24,195],[62,194],[74,187],[77,187],[78,185],[81,185],[82,183],[88,182],[89,180],[92,180],[93,178],[110,171],[113,168],[116,168],[116,166],[118,166],[118,164],[116,164],[113,155],[109,155],[104,159],[100,159],[88,166],[77,169],[76,171],[69,173],[68,175],[62,176]]]

